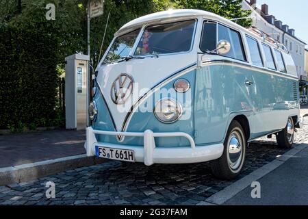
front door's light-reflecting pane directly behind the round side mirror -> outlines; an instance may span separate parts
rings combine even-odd
[[[220,40],[228,40],[231,43],[229,53],[224,56],[246,61],[243,42],[238,31],[225,27],[224,25],[218,25],[218,41]]]

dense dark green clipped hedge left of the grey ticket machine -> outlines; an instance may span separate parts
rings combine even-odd
[[[56,44],[36,29],[0,27],[0,129],[53,125]]]

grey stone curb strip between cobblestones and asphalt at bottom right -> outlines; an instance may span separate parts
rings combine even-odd
[[[307,149],[307,147],[308,144],[305,143],[298,144],[293,149],[287,151],[287,153],[284,153],[277,159],[274,159],[269,164],[266,164],[261,168],[251,172],[251,174],[247,175],[246,177],[243,177],[242,179],[235,181],[235,183],[232,183],[227,188],[224,188],[220,192],[213,194],[212,196],[207,198],[205,201],[199,203],[198,205],[222,205],[229,199],[233,198],[236,194],[238,194],[239,192],[250,186],[253,181],[257,181],[258,179],[261,179],[265,175],[268,175],[268,173],[272,172],[272,170],[284,164],[288,159],[290,159],[300,151]]]

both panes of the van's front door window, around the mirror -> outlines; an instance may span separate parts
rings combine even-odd
[[[217,26],[218,26],[218,37],[217,37]],[[246,61],[246,56],[244,53],[244,47],[241,35],[238,31],[225,27],[214,22],[205,21],[203,24],[203,31],[200,42],[200,49],[203,52],[213,51],[216,49],[218,41],[228,40],[231,43],[231,50],[224,56],[231,57],[237,60]]]

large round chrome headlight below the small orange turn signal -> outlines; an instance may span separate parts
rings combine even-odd
[[[155,104],[154,114],[162,123],[174,123],[182,112],[181,104],[171,99],[162,99]]]

